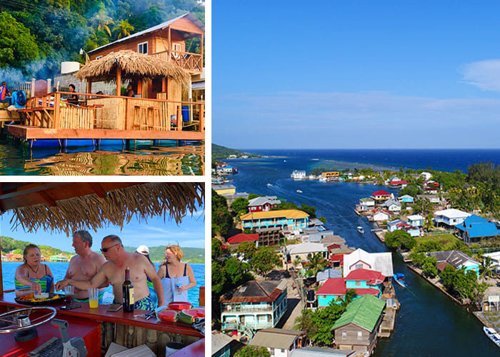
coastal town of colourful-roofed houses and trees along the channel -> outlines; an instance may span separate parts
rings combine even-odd
[[[480,209],[454,208],[453,189],[434,171],[320,171],[297,170],[291,178],[386,186],[359,197],[356,215],[411,271],[470,308],[496,343],[498,221]],[[213,202],[229,213],[225,232],[212,218],[212,266],[222,280],[218,291],[213,277],[212,356],[369,356],[380,338],[391,337],[404,308],[393,283],[411,288],[394,271],[391,252],[348,246],[314,207],[236,193],[228,176],[237,172],[226,163],[212,171]]]

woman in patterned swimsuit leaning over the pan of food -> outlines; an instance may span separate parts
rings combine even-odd
[[[36,293],[54,293],[54,277],[49,266],[41,263],[40,248],[28,244],[23,251],[23,261],[14,275],[16,291],[29,288]]]

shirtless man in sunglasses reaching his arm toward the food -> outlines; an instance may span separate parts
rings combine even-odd
[[[101,243],[101,251],[107,261],[91,281],[64,279],[56,284],[57,290],[64,288],[66,285],[74,285],[75,288],[79,289],[97,288],[107,279],[113,286],[113,303],[121,303],[123,301],[121,285],[125,281],[125,268],[128,266],[130,268],[130,280],[134,283],[134,308],[152,311],[156,307],[149,295],[149,288],[146,283],[148,277],[153,283],[158,296],[158,306],[165,304],[161,280],[145,256],[127,253],[121,239],[114,235],[104,237]]]

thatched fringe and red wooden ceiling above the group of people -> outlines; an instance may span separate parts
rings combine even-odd
[[[0,183],[1,213],[13,211],[13,228],[64,231],[123,228],[132,217],[164,216],[177,223],[204,204],[203,183]]]

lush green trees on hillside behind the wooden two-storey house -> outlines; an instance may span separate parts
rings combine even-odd
[[[7,81],[52,77],[61,61],[84,63],[81,48],[91,51],[187,11],[205,21],[204,5],[196,0],[17,0],[1,5],[0,69],[19,69],[16,78],[4,75]],[[199,52],[199,39],[186,46]]]

